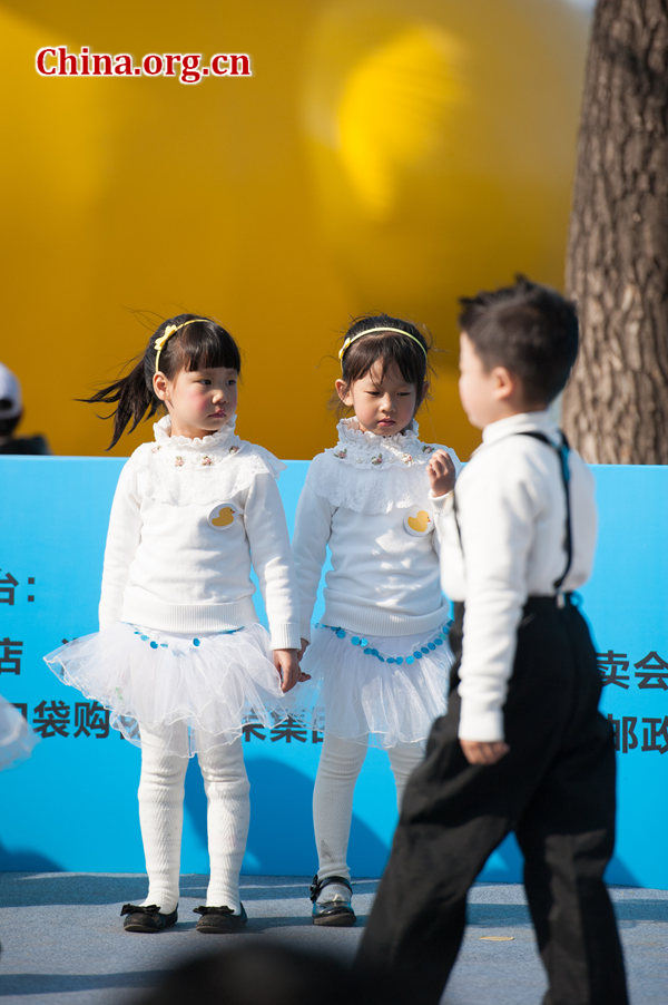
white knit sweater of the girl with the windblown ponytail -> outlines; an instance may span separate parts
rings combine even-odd
[[[124,621],[166,632],[217,632],[257,621],[257,573],[272,646],[299,645],[289,539],[267,450],[234,426],[171,437],[166,417],[120,472],[99,606],[100,627]]]

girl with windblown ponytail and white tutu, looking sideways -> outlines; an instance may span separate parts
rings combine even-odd
[[[246,720],[274,725],[299,675],[298,618],[276,476],[284,467],[235,433],[238,349],[214,321],[180,314],[141,361],[90,401],[115,404],[111,446],[165,404],[155,442],[125,465],[105,552],[100,631],[46,656],[68,684],[111,710],[141,747],[139,820],[148,872],[128,931],[177,918],[184,777],[197,753],[208,801],[210,879],[199,931],[246,921],[239,871],[249,819]],[[250,566],[269,634],[257,623]]]

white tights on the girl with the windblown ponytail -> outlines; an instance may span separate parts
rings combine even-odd
[[[141,728],[141,778],[139,823],[148,872],[145,904],[157,904],[168,914],[178,901],[180,841],[184,820],[184,779],[188,758],[169,753],[173,730],[183,723],[153,732]],[[207,798],[210,877],[206,894],[209,907],[239,910],[239,872],[250,818],[249,783],[242,741],[220,744],[198,754]]]

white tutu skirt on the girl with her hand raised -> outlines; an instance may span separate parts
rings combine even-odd
[[[383,748],[423,741],[445,711],[452,663],[445,625],[400,636],[317,625],[302,660],[314,685],[312,724]]]

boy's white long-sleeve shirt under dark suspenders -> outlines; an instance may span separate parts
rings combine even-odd
[[[462,547],[452,498],[432,500],[443,589],[466,605],[459,687],[459,734],[464,740],[503,739],[502,710],[522,607],[530,596],[553,595],[566,567],[559,458],[533,437],[517,436],[523,430],[559,442],[547,411],[511,416],[484,429],[482,446],[456,482]],[[572,563],[562,591],[577,589],[589,578],[597,529],[591,471],[574,451],[569,465]]]

